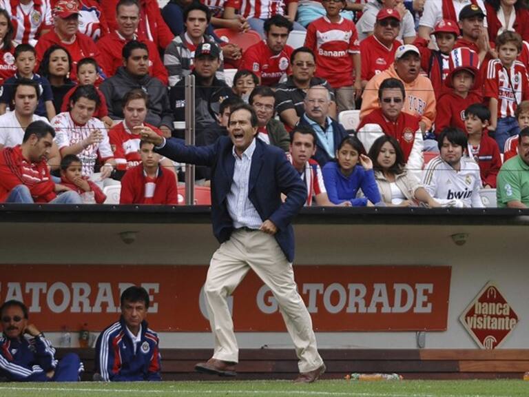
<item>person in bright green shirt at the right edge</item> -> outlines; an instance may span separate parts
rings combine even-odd
[[[518,155],[506,161],[497,179],[497,203],[501,208],[529,207],[529,128],[518,136]]]

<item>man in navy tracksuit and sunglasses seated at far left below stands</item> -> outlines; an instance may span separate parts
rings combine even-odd
[[[19,301],[0,307],[0,377],[19,382],[76,382],[83,363],[74,353],[58,361],[50,341],[33,324],[28,308]],[[27,336],[26,336],[27,335]]]

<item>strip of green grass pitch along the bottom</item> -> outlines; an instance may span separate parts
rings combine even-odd
[[[294,385],[286,380],[161,383],[0,383],[0,397],[516,397],[529,396],[523,380],[320,380]]]

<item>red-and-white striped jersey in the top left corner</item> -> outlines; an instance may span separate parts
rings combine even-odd
[[[0,0],[0,8],[10,14],[13,23],[13,41],[17,44],[37,45],[44,27],[52,28],[50,0],[33,0],[27,6],[19,0]]]

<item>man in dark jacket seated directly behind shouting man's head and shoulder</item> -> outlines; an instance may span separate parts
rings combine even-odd
[[[250,94],[248,103],[257,114],[257,137],[264,143],[289,151],[290,137],[281,121],[273,118],[276,112],[276,97],[266,85],[256,87]]]

